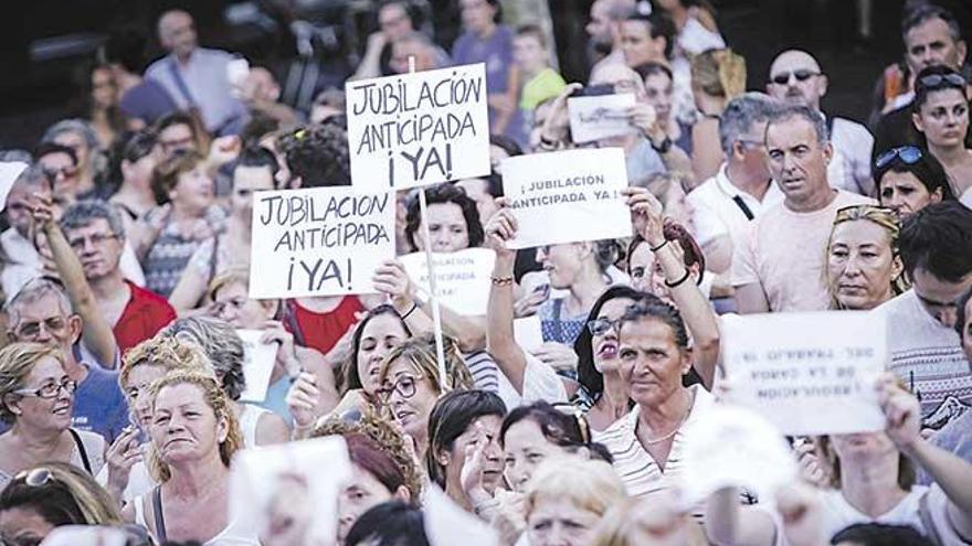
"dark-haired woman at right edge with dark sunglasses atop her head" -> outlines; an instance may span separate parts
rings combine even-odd
[[[972,204],[972,149],[969,135],[969,84],[945,66],[929,66],[918,73],[911,121],[922,133],[928,151],[949,175],[952,193]]]

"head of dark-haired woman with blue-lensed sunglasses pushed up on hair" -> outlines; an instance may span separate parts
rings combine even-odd
[[[873,172],[881,206],[895,211],[902,221],[928,205],[955,199],[941,163],[915,146],[881,153]]]

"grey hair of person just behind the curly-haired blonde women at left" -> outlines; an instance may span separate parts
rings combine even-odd
[[[230,399],[239,400],[246,389],[243,361],[246,353],[243,340],[229,322],[210,317],[178,319],[159,332],[159,335],[194,342],[202,349],[220,379],[220,386]]]

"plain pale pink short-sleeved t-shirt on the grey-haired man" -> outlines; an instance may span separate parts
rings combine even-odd
[[[750,224],[732,253],[732,286],[760,283],[772,312],[823,311],[830,307],[823,271],[837,210],[875,204],[869,197],[837,191],[826,207],[797,213],[773,205]]]

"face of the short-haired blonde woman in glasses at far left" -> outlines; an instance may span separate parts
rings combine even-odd
[[[44,356],[34,364],[21,388],[36,390],[42,387],[63,385],[70,381],[64,366]],[[44,430],[66,430],[71,426],[71,411],[74,408],[74,394],[61,388],[53,398],[22,395],[17,403],[20,414],[17,421],[31,428]]]

